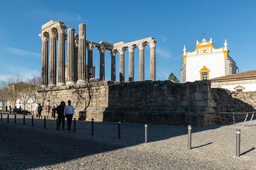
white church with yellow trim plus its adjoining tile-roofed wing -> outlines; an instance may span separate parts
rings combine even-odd
[[[214,48],[212,38],[196,42],[195,51],[183,49],[181,83],[208,79],[212,88],[227,88],[230,91],[256,91],[256,70],[239,73],[236,62],[230,57],[227,40],[224,47]]]

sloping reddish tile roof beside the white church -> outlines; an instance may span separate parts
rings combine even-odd
[[[237,74],[230,74],[228,76],[215,77],[213,79],[209,79],[210,81],[218,81],[218,80],[229,80],[229,79],[245,79],[245,78],[256,78],[256,70],[244,71]]]

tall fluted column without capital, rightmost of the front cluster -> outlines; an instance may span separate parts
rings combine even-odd
[[[79,44],[78,44],[78,80],[77,84],[86,83],[85,76],[85,65],[86,65],[86,54],[85,54],[85,24],[79,24]]]

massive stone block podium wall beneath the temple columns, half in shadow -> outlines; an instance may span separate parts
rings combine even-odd
[[[86,119],[197,124],[211,122],[214,102],[208,80],[90,82],[38,90],[43,105],[72,101],[76,116]]]

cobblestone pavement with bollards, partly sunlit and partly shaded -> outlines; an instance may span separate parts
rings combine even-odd
[[[55,120],[34,119],[23,125],[22,115],[0,122],[1,170],[255,170],[256,126],[192,127],[192,150],[187,150],[187,127],[77,121],[73,130],[55,130]],[[254,122],[254,121],[253,121]],[[67,122],[66,122],[67,123]],[[73,124],[72,124],[73,125]],[[67,127],[67,126],[66,126]],[[72,126],[73,129],[73,126]],[[241,156],[236,157],[236,129],[241,129]]]

